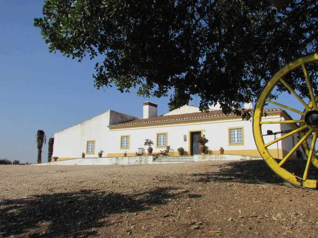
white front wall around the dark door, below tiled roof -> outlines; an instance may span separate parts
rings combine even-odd
[[[266,120],[278,120],[279,116],[268,116]],[[222,119],[222,120],[221,120]],[[192,130],[203,130],[203,134],[209,140],[206,144],[209,146],[209,150],[218,150],[222,146],[227,152],[230,150],[255,150],[256,145],[254,142],[252,123],[250,121],[242,121],[242,119],[229,120],[226,117],[221,118],[218,121],[212,122],[194,122],[184,124],[173,124],[173,125],[161,125],[161,126],[149,126],[149,127],[135,127],[129,129],[111,129],[110,135],[115,140],[109,141],[109,145],[112,148],[112,153],[123,153],[120,149],[120,136],[130,136],[130,146],[127,149],[127,153],[134,153],[137,148],[145,148],[145,139],[151,139],[154,142],[152,146],[154,152],[163,150],[165,147],[156,148],[156,133],[168,133],[167,145],[170,145],[171,151],[176,151],[177,148],[183,147],[185,151],[189,151],[189,131]],[[244,128],[244,145],[229,145],[229,128]],[[280,131],[279,124],[265,124],[262,126],[264,133],[266,134],[267,129],[273,131]],[[183,135],[187,136],[187,141],[183,141]],[[265,142],[273,140],[273,136],[265,136]],[[117,139],[118,138],[118,139]],[[281,143],[278,143],[279,149]],[[276,149],[277,145],[273,144],[268,149]],[[176,152],[177,153],[177,152]]]

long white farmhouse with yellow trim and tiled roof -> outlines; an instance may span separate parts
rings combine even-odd
[[[268,108],[266,113],[262,120],[290,120],[283,109]],[[280,132],[295,128],[296,125],[291,123],[264,124],[262,127],[263,134],[267,130]],[[189,105],[158,116],[157,104],[152,102],[143,103],[143,118],[109,110],[55,133],[53,156],[66,160],[79,158],[85,152],[85,157],[97,157],[99,150],[104,151],[103,157],[121,157],[126,151],[127,156],[135,156],[138,148],[144,148],[147,153],[146,139],[154,142],[153,154],[170,146],[170,156],[178,156],[179,147],[184,148],[184,155],[194,155],[200,154],[197,139],[203,135],[209,140],[206,144],[209,154],[219,154],[219,148],[223,147],[225,154],[260,156],[251,121],[243,121],[234,114],[224,115],[217,107],[206,113]],[[274,135],[264,137],[265,142],[273,139]],[[297,138],[290,137],[268,149],[276,158],[283,158],[295,143]]]

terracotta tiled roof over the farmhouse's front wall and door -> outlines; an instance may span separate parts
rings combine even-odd
[[[266,108],[265,111],[281,111],[281,108]],[[109,125],[109,127],[114,126],[127,126],[127,125],[136,125],[136,124],[147,124],[147,123],[157,123],[157,122],[169,122],[169,121],[183,121],[183,120],[194,120],[199,118],[209,118],[209,117],[222,117],[222,116],[231,116],[235,115],[230,113],[225,115],[222,110],[215,110],[209,112],[192,112],[178,115],[168,115],[168,116],[156,116],[151,118],[138,118],[128,122],[122,122],[119,124]]]

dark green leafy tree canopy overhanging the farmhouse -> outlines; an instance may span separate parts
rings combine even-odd
[[[285,1],[288,2],[288,1]],[[201,97],[240,115],[287,62],[317,51],[318,1],[45,0],[34,26],[50,52],[96,63],[94,86],[138,88],[141,96],[177,102]]]

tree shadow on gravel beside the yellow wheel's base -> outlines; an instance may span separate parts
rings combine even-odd
[[[263,160],[235,161],[221,165],[218,172],[192,174],[194,182],[241,182],[241,183],[283,183],[279,175],[276,175]]]

